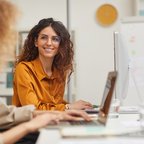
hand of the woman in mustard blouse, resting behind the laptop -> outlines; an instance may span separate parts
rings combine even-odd
[[[93,106],[91,103],[79,100],[74,103],[68,104],[69,109],[78,109],[78,110],[84,110],[84,109],[92,109]]]

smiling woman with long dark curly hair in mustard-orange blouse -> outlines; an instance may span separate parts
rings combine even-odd
[[[86,101],[68,104],[65,85],[73,72],[73,45],[60,21],[42,19],[29,32],[14,73],[13,104],[39,110],[90,109]]]

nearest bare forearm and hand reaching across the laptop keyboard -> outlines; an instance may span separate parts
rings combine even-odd
[[[3,132],[0,134],[0,139],[2,139],[4,144],[15,143],[20,138],[28,133],[37,131],[50,123],[57,124],[61,120],[78,120],[79,117],[90,121],[90,117],[84,111],[69,110],[66,112],[60,111],[49,111],[45,113],[39,113],[32,120],[22,123],[14,128]]]

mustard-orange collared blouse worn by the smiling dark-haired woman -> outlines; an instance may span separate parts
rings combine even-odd
[[[65,81],[60,80],[57,69],[48,77],[39,58],[17,65],[13,86],[12,103],[16,106],[33,104],[39,110],[65,109]]]

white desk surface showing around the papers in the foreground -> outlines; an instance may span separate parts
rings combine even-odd
[[[109,118],[106,129],[118,133],[140,130],[138,114],[120,114],[118,118]],[[36,144],[142,144],[144,138],[130,137],[93,137],[93,138],[63,138],[58,129],[41,129]]]

